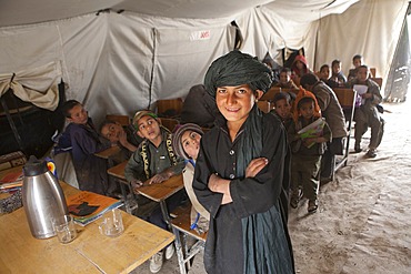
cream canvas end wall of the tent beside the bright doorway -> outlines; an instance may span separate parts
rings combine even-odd
[[[377,77],[387,79],[407,7],[404,0],[362,0],[342,14],[321,19],[315,69],[340,59],[348,73],[352,57],[362,54]]]

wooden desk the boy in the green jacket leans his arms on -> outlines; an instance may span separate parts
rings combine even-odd
[[[126,164],[127,164],[127,161],[109,169],[108,173],[127,183],[126,176],[124,176]],[[136,190],[137,192],[139,192],[139,194],[154,202],[160,203],[161,213],[164,217],[164,221],[170,226],[170,214],[167,209],[166,200],[170,197],[171,195],[176,194],[177,192],[179,192],[180,190],[182,190],[183,187],[184,187],[184,183],[183,183],[182,174],[179,174],[179,175],[170,177],[169,180],[162,183],[143,185]],[[170,226],[170,230],[171,230],[171,226]]]

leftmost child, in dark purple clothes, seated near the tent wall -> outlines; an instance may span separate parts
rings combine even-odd
[[[112,195],[117,186],[110,184],[108,180],[107,161],[94,155],[110,148],[110,142],[100,139],[91,118],[80,102],[67,101],[62,112],[70,123],[60,136],[58,148],[71,148],[79,189]]]

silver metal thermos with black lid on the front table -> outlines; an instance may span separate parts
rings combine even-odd
[[[23,174],[21,195],[31,234],[37,239],[54,236],[52,220],[68,214],[63,191],[44,160],[30,156]]]

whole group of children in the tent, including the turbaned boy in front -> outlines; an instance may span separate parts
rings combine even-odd
[[[331,68],[322,65],[318,77],[305,58],[298,55],[290,69],[280,71],[279,82],[272,84],[268,67],[232,51],[211,64],[204,85],[193,87],[201,90],[198,95],[207,97],[212,108],[207,113],[207,125],[215,121],[209,133],[200,128],[204,124],[186,121],[172,134],[150,110],[138,111],[130,126],[104,121],[97,131],[83,105],[70,100],[62,108],[69,125],[57,151],[71,151],[80,190],[104,195],[113,195],[117,187],[108,180],[106,160],[94,153],[112,145],[121,148],[117,163],[128,160],[124,176],[133,189],[162,183],[182,172],[186,191],[168,199],[167,204],[172,211],[188,195],[192,227],[199,232],[210,230],[204,257],[208,271],[241,273],[257,267],[259,273],[292,273],[288,204],[295,209],[305,196],[308,212],[318,210],[320,182],[331,179],[335,155],[342,154],[347,138],[344,114],[333,88],[367,87],[360,89],[363,92],[355,108],[355,152],[362,151],[361,139],[368,126],[368,156],[377,155],[382,139],[380,89],[369,79],[369,68],[361,55],[353,58],[353,64],[348,79],[340,60],[333,60]],[[298,93],[277,93],[273,111],[263,114],[255,102],[271,87]],[[168,227],[159,209],[147,221]],[[261,225],[268,227],[255,231]],[[277,258],[260,262],[265,251],[255,246],[263,242],[280,243],[280,250],[267,250],[278,254]],[[172,245],[164,253],[170,258]],[[163,256],[159,252],[150,260],[152,273],[161,270]]]

